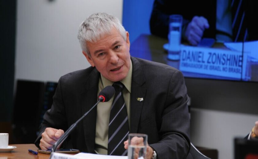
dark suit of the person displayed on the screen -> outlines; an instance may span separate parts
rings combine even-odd
[[[258,1],[244,0],[242,4],[246,18],[244,22],[248,29],[247,40],[258,40],[258,25],[256,23]],[[209,29],[205,29],[203,37],[215,39],[217,33],[221,34],[221,31],[216,30],[217,0],[155,0],[150,19],[151,34],[167,38],[169,16],[171,14],[181,14],[183,16],[183,32],[194,16],[203,16],[209,22]]]

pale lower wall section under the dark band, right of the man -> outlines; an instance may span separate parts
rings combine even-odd
[[[234,137],[250,133],[257,115],[193,108],[191,142],[196,146],[217,149],[219,159],[233,159]]]

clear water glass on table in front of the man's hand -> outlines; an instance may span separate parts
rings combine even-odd
[[[128,159],[145,159],[148,135],[140,133],[128,134]]]

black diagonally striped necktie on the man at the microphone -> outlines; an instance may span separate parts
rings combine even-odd
[[[112,85],[115,88],[115,96],[110,110],[108,125],[108,155],[124,156],[127,150],[123,142],[129,134],[127,110],[123,98],[123,83],[120,81]]]

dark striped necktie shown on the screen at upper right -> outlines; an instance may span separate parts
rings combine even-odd
[[[246,27],[244,0],[232,0],[231,11],[233,42],[246,41],[248,31]]]

